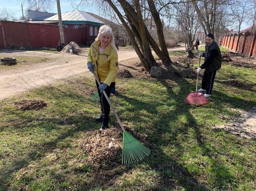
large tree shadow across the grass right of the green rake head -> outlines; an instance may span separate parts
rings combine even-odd
[[[228,188],[228,185],[232,185],[233,188],[237,187],[237,185],[232,184],[232,180],[235,179],[235,176],[229,173],[229,169],[225,164],[218,161],[219,155],[216,154],[216,148],[210,148],[208,142],[206,142],[208,137],[205,135],[205,128],[207,129],[208,127],[202,126],[199,128],[193,115],[190,114],[190,110],[197,109],[197,107],[187,106],[183,103],[183,99],[189,92],[191,92],[189,89],[191,89],[191,87],[194,85],[186,82],[186,80],[183,79],[179,79],[178,83],[187,83],[187,90],[184,91],[184,88],[181,88],[178,93],[174,93],[170,87],[170,84],[162,81],[162,84],[169,90],[167,99],[179,99],[177,101],[173,101],[172,104],[167,104],[168,107],[174,107],[174,109],[168,113],[158,116],[158,120],[153,121],[153,126],[155,128],[147,131],[149,140],[148,146],[151,151],[153,151],[150,159],[147,160],[147,163],[152,169],[158,171],[162,175],[161,181],[158,182],[158,190],[175,189],[176,187],[182,187],[186,190],[209,190],[208,188],[211,187],[216,189],[225,189]],[[223,95],[220,94],[220,96]],[[158,100],[154,100],[156,103],[152,104],[121,94],[119,97],[133,105],[133,109],[136,108],[134,111],[134,116],[129,115],[129,118],[123,118],[124,120],[128,121],[132,121],[133,119],[138,120],[136,114],[138,114],[141,110],[146,110],[148,113],[156,114],[156,106],[162,104],[161,101]],[[230,100],[230,104],[238,108],[244,108],[244,105],[254,105],[254,101],[243,99],[234,101],[231,100],[231,97],[229,97],[227,100]],[[166,101],[166,103],[168,103],[168,101]],[[244,104],[241,105],[241,103]],[[209,106],[204,107],[208,108]],[[220,108],[221,106],[219,105],[217,110]],[[119,109],[118,112],[123,113],[124,111],[125,110]],[[147,123],[148,115],[141,115],[141,121]],[[186,118],[186,122],[179,123],[179,117],[184,118],[184,116]],[[170,121],[176,121],[177,126],[171,125]],[[216,130],[213,131],[216,132]],[[193,138],[190,138],[191,134]],[[201,153],[199,156],[207,157],[210,161],[214,161],[211,164],[211,169],[213,171],[211,176],[213,177],[209,177],[212,179],[211,182],[214,182],[213,185],[203,185],[202,183],[198,182],[198,179],[201,179],[204,176],[200,170],[201,167],[199,167],[200,165],[203,166],[203,164],[196,164],[194,169],[195,171],[193,171],[189,169],[189,165],[187,165],[186,162],[184,164],[182,163],[182,158],[184,155],[186,156],[186,152],[188,152],[186,151],[186,146],[181,145],[183,144],[183,141],[186,141],[186,139],[193,141],[195,145],[201,148]],[[222,139],[223,142],[226,141],[224,137]],[[178,152],[175,152],[174,154],[171,153],[169,155],[167,152],[164,152],[163,148],[165,147],[175,147]],[[206,170],[204,167],[202,168],[203,170]]]

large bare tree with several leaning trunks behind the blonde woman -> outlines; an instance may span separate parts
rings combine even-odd
[[[84,2],[88,4],[88,0],[81,0],[80,4]],[[114,10],[119,21],[126,28],[131,44],[146,71],[150,71],[152,66],[158,65],[152,55],[150,46],[163,64],[169,65],[172,63],[163,37],[163,26],[158,13],[159,10],[156,9],[153,1],[147,0],[141,3],[139,0],[105,0],[99,7],[103,7],[106,10],[107,6]],[[155,23],[160,47],[144,23],[144,19],[148,20],[148,18]]]

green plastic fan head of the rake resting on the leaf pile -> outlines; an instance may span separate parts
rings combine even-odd
[[[127,131],[123,133],[122,164],[139,162],[149,156],[150,150]]]

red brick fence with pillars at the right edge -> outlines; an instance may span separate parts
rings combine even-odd
[[[223,35],[222,46],[248,57],[256,58],[256,32],[241,32]]]

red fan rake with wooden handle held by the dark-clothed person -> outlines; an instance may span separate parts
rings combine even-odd
[[[201,61],[201,56],[199,57],[199,67],[200,67],[200,61]],[[187,105],[203,106],[210,103],[210,101],[205,97],[203,93],[197,92],[198,76],[199,76],[199,72],[197,73],[196,91],[190,92],[188,96],[183,100],[183,102]]]

